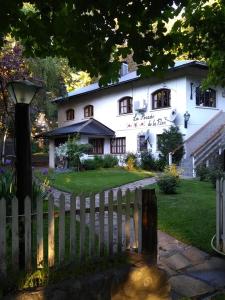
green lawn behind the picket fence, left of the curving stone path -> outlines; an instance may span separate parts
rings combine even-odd
[[[124,169],[101,169],[85,172],[54,173],[51,183],[54,187],[75,194],[98,193],[132,181],[152,177],[148,171],[127,171]]]

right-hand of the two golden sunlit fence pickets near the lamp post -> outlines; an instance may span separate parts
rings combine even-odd
[[[55,264],[55,220],[54,220],[54,198],[50,195],[48,199],[48,266]]]

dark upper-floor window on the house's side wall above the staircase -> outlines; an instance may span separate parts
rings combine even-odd
[[[196,105],[216,107],[216,91],[213,89],[203,91],[200,87],[196,87]]]

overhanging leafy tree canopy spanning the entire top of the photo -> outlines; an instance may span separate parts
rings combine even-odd
[[[145,77],[185,54],[207,61],[208,83],[225,85],[222,0],[2,2],[0,42],[11,32],[27,55],[67,57],[92,77],[104,74],[102,84],[118,79],[121,57],[129,54]]]

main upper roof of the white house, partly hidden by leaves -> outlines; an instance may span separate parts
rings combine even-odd
[[[168,69],[168,71],[171,72],[171,71],[175,71],[175,70],[183,69],[183,68],[187,68],[187,67],[198,67],[198,68],[206,69],[207,65],[206,65],[206,63],[201,62],[201,61],[180,60],[180,61],[176,61],[174,66],[170,67]],[[107,89],[107,88],[110,88],[113,86],[118,86],[118,85],[130,82],[130,81],[139,80],[139,79],[141,79],[141,77],[140,77],[140,75],[137,74],[136,71],[130,72],[130,73],[120,77],[119,81],[116,83],[112,83],[107,86],[100,87],[98,82],[96,82],[96,83],[90,84],[88,86],[73,90],[72,92],[68,93],[67,97],[56,98],[55,100],[53,100],[53,102],[62,103],[64,101],[67,101],[71,97],[76,97],[76,96],[80,96],[80,95],[84,95],[84,94],[90,94],[90,93],[96,92],[98,90]]]

